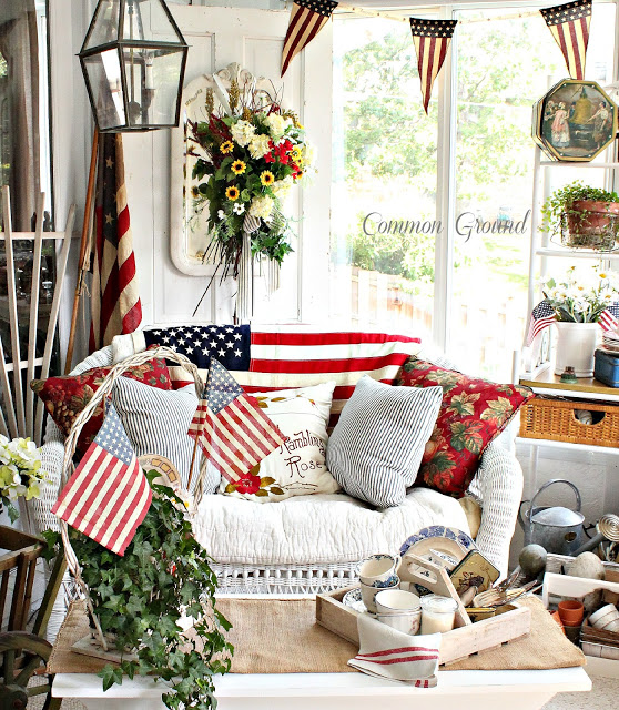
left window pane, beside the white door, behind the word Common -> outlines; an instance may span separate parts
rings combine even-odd
[[[334,21],[331,315],[429,337],[437,101],[405,23]]]

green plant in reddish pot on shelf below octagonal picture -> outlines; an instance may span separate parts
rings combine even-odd
[[[540,227],[566,246],[610,251],[619,231],[619,196],[580,181],[556,190],[541,207]]]

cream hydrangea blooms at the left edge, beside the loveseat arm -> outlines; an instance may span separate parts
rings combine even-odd
[[[41,449],[30,439],[10,442],[0,434],[0,510],[7,507],[11,523],[19,517],[13,501],[21,496],[27,500],[40,498],[40,485],[44,481]]]

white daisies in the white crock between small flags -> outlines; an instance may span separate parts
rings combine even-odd
[[[576,266],[568,270],[565,281],[550,278],[542,285],[557,321],[564,323],[597,323],[601,314],[618,300],[617,276],[593,266],[592,273],[578,275]]]

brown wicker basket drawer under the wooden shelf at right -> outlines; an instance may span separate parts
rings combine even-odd
[[[602,412],[596,424],[582,424],[576,409]],[[575,402],[551,397],[534,397],[520,409],[520,436],[571,444],[619,446],[619,406]]]

